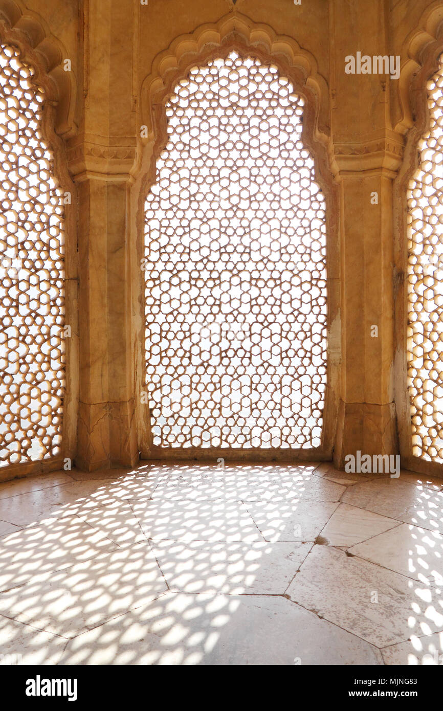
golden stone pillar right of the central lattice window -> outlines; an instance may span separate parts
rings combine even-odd
[[[346,74],[348,55],[389,55],[385,3],[337,0],[331,12],[331,166],[340,186],[341,382],[334,461],[396,454],[393,393],[393,178],[389,75]]]

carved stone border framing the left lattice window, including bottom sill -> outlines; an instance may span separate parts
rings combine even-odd
[[[18,9],[16,2],[0,0],[0,41],[18,48],[19,58],[34,70],[33,83],[45,94],[41,132],[43,140],[53,153],[53,173],[60,188],[71,193],[71,205],[65,208],[65,324],[71,326],[72,336],[65,341],[65,400],[61,453],[53,459],[12,464],[0,469],[0,481],[9,481],[28,474],[46,473],[63,468],[63,459],[73,462],[77,446],[78,411],[78,264],[76,188],[68,171],[65,141],[59,135],[68,121],[68,102],[61,101],[63,82],[58,76],[67,74],[59,66],[63,60],[58,41],[46,38],[43,26],[36,16],[13,15]],[[6,10],[8,13],[6,14]],[[11,21],[12,16],[12,21]],[[32,41],[31,41],[32,38]],[[48,40],[48,41],[46,41]],[[55,51],[55,49],[58,49]],[[52,49],[51,49],[52,48]],[[57,62],[57,63],[55,63]],[[58,71],[59,70],[59,71]],[[71,83],[71,80],[69,80]]]

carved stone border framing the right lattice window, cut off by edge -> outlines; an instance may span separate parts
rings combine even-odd
[[[393,183],[395,365],[394,393],[402,466],[421,474],[442,476],[442,464],[412,454],[410,397],[407,386],[407,189],[420,166],[418,144],[429,129],[427,81],[443,54],[443,2],[423,14],[419,27],[405,40],[410,58],[400,75],[403,119],[397,130],[407,132],[402,166]]]

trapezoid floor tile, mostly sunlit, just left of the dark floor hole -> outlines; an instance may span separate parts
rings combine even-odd
[[[265,540],[314,541],[336,510],[336,501],[246,503]]]

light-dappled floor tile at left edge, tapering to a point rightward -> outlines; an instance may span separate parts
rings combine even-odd
[[[0,539],[0,591],[28,582],[33,575],[90,560],[117,545],[78,516],[48,520]]]

